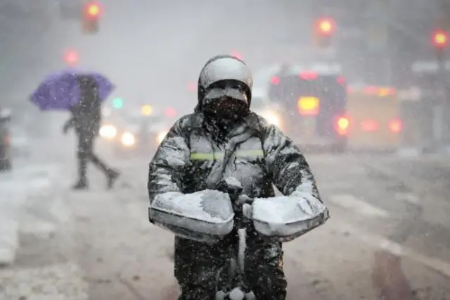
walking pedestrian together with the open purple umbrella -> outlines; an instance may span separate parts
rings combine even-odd
[[[63,126],[67,133],[74,128],[78,137],[77,158],[79,179],[73,189],[89,188],[86,169],[91,161],[103,171],[112,188],[120,175],[94,154],[94,142],[101,125],[101,101],[113,91],[114,86],[103,75],[65,70],[52,74],[39,85],[31,100],[41,110],[67,110],[71,118]]]

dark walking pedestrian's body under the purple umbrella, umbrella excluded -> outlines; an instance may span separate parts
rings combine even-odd
[[[89,75],[78,75],[77,82],[81,90],[81,101],[72,106],[70,118],[63,127],[63,132],[67,133],[71,127],[75,128],[78,136],[77,158],[78,158],[78,182],[74,189],[87,189],[88,182],[86,169],[88,161],[91,161],[97,168],[105,173],[108,180],[108,188],[113,187],[114,181],[119,173],[109,168],[94,154],[94,140],[98,135],[101,125],[101,103],[98,99],[96,80]]]

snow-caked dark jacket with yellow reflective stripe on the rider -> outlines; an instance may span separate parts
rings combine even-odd
[[[314,176],[300,149],[275,125],[250,113],[223,141],[205,129],[205,115],[196,112],[180,118],[150,162],[148,193],[183,194],[215,189],[225,177],[235,177],[243,194],[252,198],[275,195],[315,197],[320,200]]]

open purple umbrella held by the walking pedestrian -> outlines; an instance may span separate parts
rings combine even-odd
[[[69,69],[47,76],[30,96],[30,101],[42,111],[70,109],[81,99],[77,75],[94,77],[100,101],[108,98],[115,88],[110,80],[100,73]]]

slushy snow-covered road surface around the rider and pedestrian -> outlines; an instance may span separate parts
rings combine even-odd
[[[288,299],[449,299],[448,158],[307,158],[331,219],[285,244]],[[148,158],[117,161],[112,191],[91,168],[87,192],[68,189],[72,159],[0,176],[1,211],[15,211],[1,218],[1,254],[8,220],[20,242],[0,299],[176,299],[173,238],[147,220]]]

